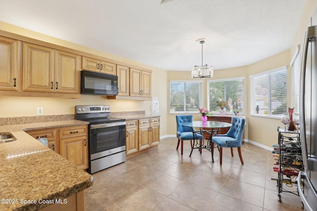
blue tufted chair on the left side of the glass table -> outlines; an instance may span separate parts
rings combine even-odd
[[[193,148],[192,140],[193,131],[191,127],[183,126],[182,123],[192,123],[193,115],[176,115],[176,124],[177,124],[177,133],[176,137],[178,138],[178,143],[176,150],[178,150],[179,142],[181,141],[181,155],[183,155],[183,140],[190,140],[191,147]],[[193,128],[195,131],[195,128]],[[203,135],[196,133],[195,139],[203,139]]]

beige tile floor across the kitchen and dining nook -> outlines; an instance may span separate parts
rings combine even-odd
[[[242,157],[224,148],[222,166],[215,150],[194,150],[176,138],[161,139],[159,147],[125,163],[94,173],[85,190],[86,211],[301,211],[300,197],[282,192],[278,202],[277,173],[270,151],[243,143]],[[283,185],[285,188],[289,188]],[[296,190],[296,187],[290,187]]]

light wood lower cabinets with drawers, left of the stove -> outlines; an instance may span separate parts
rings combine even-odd
[[[72,126],[26,131],[47,138],[49,147],[80,169],[88,169],[88,127]]]

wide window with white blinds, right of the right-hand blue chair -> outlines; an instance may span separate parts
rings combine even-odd
[[[250,114],[279,117],[286,113],[286,66],[250,76]]]

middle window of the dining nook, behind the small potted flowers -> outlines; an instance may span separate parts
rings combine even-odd
[[[220,113],[217,101],[228,103],[226,113],[244,113],[244,77],[208,81],[208,108],[212,113]]]

